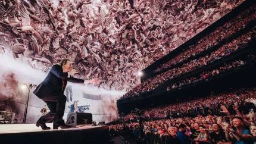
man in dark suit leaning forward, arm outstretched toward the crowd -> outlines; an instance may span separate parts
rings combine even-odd
[[[42,99],[50,109],[46,115],[43,115],[36,122],[36,126],[40,126],[43,130],[51,129],[47,127],[45,123],[53,123],[53,129],[68,129],[68,126],[64,123],[63,115],[65,111],[65,102],[67,101],[64,95],[65,86],[68,82],[72,83],[97,83],[98,79],[83,80],[71,77],[73,74],[78,73],[76,70],[71,69],[72,62],[68,59],[64,59],[60,62],[60,65],[56,64],[51,68],[48,76],[42,83],[36,87],[35,93],[38,98]]]

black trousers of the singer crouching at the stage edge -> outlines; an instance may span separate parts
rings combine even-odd
[[[39,123],[56,123],[64,124],[63,115],[65,111],[65,102],[67,98],[65,95],[62,96],[45,96],[42,100],[47,104],[50,112],[46,115],[42,115],[39,118]]]

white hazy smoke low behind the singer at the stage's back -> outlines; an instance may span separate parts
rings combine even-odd
[[[0,111],[11,111],[14,114],[12,123],[21,123],[28,94],[28,89],[21,89],[21,84],[39,84],[45,79],[48,70],[40,62],[30,61],[26,57],[15,59],[6,51],[0,54]],[[117,118],[116,101],[123,91],[105,90],[90,85],[69,83],[73,89],[73,99],[66,103],[65,115],[74,101],[89,107],[85,112],[93,114],[93,121],[111,121]],[[35,123],[40,117],[40,109],[45,103],[30,90],[27,123]],[[85,97],[85,93],[97,99]],[[64,92],[65,95],[65,92]],[[64,115],[64,118],[65,118]]]

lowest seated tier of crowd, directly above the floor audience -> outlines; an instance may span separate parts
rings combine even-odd
[[[254,98],[255,96],[255,90],[241,90],[232,93],[210,95],[205,98],[189,99],[188,101],[178,102],[177,104],[168,105],[167,107],[148,109],[148,111],[145,111],[145,117],[167,118],[170,116],[175,118],[180,116],[192,117],[198,114],[219,115],[221,114],[221,105],[226,105],[226,107],[230,108],[230,105],[238,102],[238,104],[246,107],[245,99]]]

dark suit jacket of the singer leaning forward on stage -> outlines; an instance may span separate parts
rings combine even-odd
[[[83,79],[68,77],[68,73],[63,73],[63,68],[60,65],[54,65],[48,73],[48,76],[36,87],[33,93],[35,93],[38,98],[45,96],[61,96],[63,95],[67,81],[72,83],[85,82]]]

